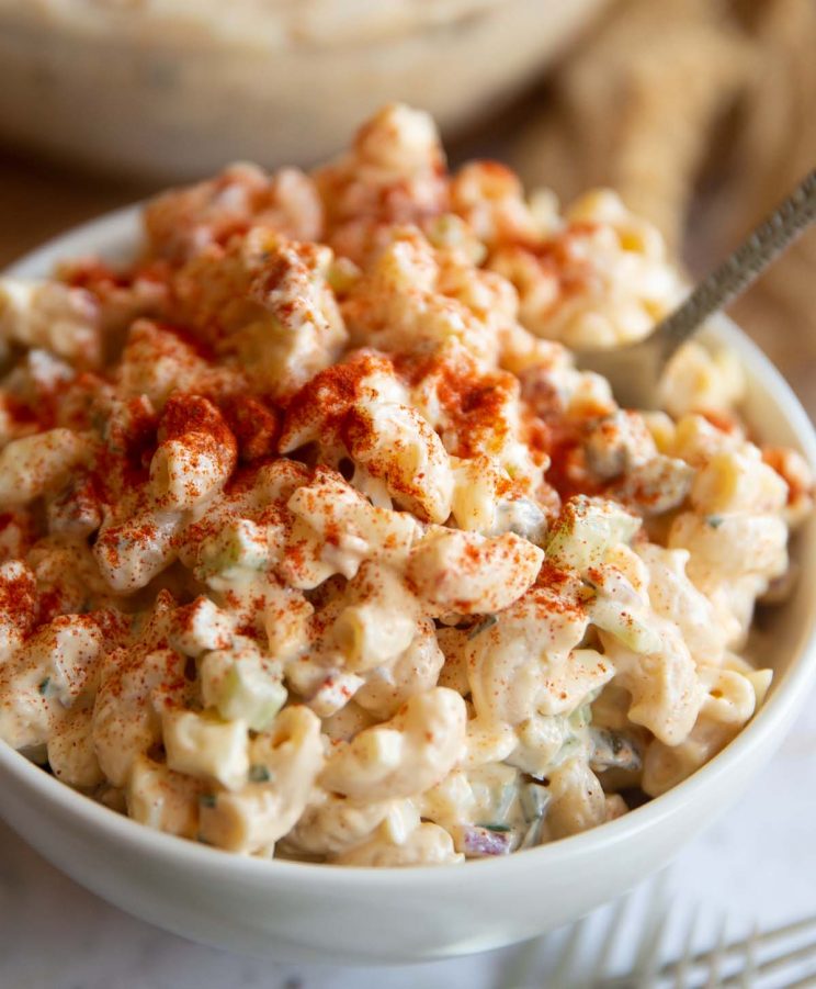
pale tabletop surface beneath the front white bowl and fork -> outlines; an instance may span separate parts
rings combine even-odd
[[[666,884],[666,957],[679,949],[694,914],[701,946],[716,941],[724,922],[729,936],[739,936],[755,924],[766,930],[816,914],[816,695],[755,787],[680,853]],[[634,958],[648,895],[638,900],[619,943],[622,965]],[[604,908],[608,915],[612,909]],[[601,925],[593,918],[588,930],[593,923]],[[553,985],[547,967],[557,942],[556,935],[528,951],[524,989]],[[109,906],[0,824],[2,989],[510,989],[519,951],[369,969],[279,965],[216,951]],[[816,959],[795,977],[811,973],[816,985]],[[778,989],[792,980],[777,975],[759,985]]]

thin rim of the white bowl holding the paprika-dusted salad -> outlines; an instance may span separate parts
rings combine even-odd
[[[103,258],[114,259],[132,255],[140,239],[140,209],[141,204],[135,203],[76,226],[27,252],[2,274],[44,277],[55,261],[94,251]],[[816,431],[779,370],[727,317],[716,319],[714,336],[738,355],[749,377],[762,379],[763,391],[795,436],[796,445],[805,459],[816,468]],[[812,519],[811,527],[816,528],[816,518]],[[816,538],[813,541],[811,555],[816,557]],[[554,859],[558,861],[559,866],[567,867],[571,862],[601,850],[609,854],[620,845],[632,847],[639,835],[659,828],[662,821],[672,817],[684,805],[693,802],[700,794],[715,788],[717,780],[730,772],[733,764],[749,760],[761,763],[767,743],[783,734],[782,722],[795,717],[807,698],[808,686],[816,681],[816,605],[812,608],[809,621],[796,640],[793,651],[795,660],[791,667],[739,734],[710,762],[666,794],[615,820],[579,834],[508,856],[469,861],[465,868],[331,866],[326,863],[265,859],[225,852],[155,830],[98,803],[60,783],[2,740],[0,779],[3,775],[13,777],[21,787],[33,791],[41,803],[56,805],[61,813],[76,818],[81,825],[94,831],[100,838],[105,835],[115,842],[135,846],[137,851],[155,858],[172,859],[177,865],[186,863],[200,874],[222,873],[224,868],[228,868],[236,879],[253,885],[267,884],[270,888],[297,887],[303,892],[306,887],[315,885],[322,894],[344,891],[349,887],[365,890],[398,885],[400,889],[421,886],[432,895],[451,883],[465,889],[474,884],[491,883],[500,876],[509,878],[532,868],[543,869]]]

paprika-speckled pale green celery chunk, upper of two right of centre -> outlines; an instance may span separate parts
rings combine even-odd
[[[583,573],[603,561],[609,549],[630,542],[641,519],[614,502],[577,495],[562,508],[546,546],[547,560]]]

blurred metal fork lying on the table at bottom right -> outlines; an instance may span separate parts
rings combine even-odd
[[[601,943],[590,951],[582,945],[594,914],[575,924],[547,966],[546,976],[533,976],[532,969],[549,935],[529,942],[503,974],[499,989],[725,989],[759,985],[767,989],[816,989],[816,915],[761,933],[755,926],[738,939],[728,939],[723,921],[716,942],[695,951],[699,914],[694,913],[679,957],[661,960],[669,919],[665,875],[653,885],[642,911],[645,922],[634,944],[634,963],[624,974],[614,975],[612,958],[631,919],[633,901],[634,895],[630,895],[608,911]],[[803,974],[802,966],[811,960],[813,966]],[[781,981],[785,977],[793,981]],[[768,981],[771,978],[773,981]]]

